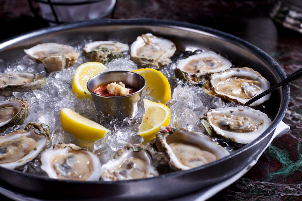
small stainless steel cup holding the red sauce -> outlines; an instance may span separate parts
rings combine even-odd
[[[94,93],[96,87],[111,82],[122,82],[138,91],[126,96],[103,96]],[[133,118],[140,107],[140,99],[146,86],[145,79],[137,73],[129,71],[109,71],[92,77],[87,83],[87,89],[92,95],[95,108],[104,113],[111,114],[119,119]]]

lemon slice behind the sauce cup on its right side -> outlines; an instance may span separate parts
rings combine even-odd
[[[159,71],[152,68],[144,68],[132,71],[140,74],[146,80],[145,92],[154,102],[165,104],[171,100],[171,87],[168,79]]]

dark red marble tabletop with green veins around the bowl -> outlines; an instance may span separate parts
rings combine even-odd
[[[179,20],[221,30],[264,50],[290,75],[302,67],[302,35],[274,24],[268,16],[273,3],[274,0],[118,0],[114,18]],[[0,40],[48,26],[34,17],[27,0],[0,0],[0,24]],[[291,130],[275,139],[242,178],[210,200],[302,200],[302,80],[290,83],[290,89],[283,121]]]

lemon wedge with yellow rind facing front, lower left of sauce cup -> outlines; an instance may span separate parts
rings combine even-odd
[[[63,130],[80,140],[95,141],[103,138],[110,130],[83,117],[72,109],[62,108],[60,121]]]

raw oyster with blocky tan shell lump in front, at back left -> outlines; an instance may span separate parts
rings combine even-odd
[[[79,57],[71,46],[54,42],[38,44],[24,52],[34,61],[42,62],[49,73],[72,66]]]

